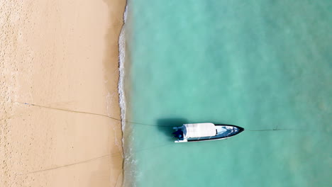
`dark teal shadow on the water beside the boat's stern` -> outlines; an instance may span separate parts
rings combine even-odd
[[[172,135],[175,132],[173,127],[179,127],[185,123],[188,123],[186,118],[160,118],[157,120],[157,128],[160,132],[164,132],[167,137],[170,137],[170,140],[174,141],[176,138]]]

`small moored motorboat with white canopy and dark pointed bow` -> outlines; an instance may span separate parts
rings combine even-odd
[[[173,135],[179,142],[199,142],[209,140],[223,140],[238,135],[244,128],[236,125],[214,124],[214,123],[190,123],[181,127],[174,127]]]

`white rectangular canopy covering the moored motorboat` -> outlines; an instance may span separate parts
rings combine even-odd
[[[216,135],[216,126],[213,123],[192,123],[182,126],[184,138],[210,137]]]

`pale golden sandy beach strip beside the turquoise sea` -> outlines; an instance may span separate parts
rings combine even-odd
[[[0,186],[122,186],[125,4],[0,2]]]

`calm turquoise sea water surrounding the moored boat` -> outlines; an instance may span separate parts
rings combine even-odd
[[[128,2],[125,186],[329,186],[332,1]],[[172,143],[227,123],[228,140]],[[279,129],[278,131],[250,131]],[[281,130],[286,129],[286,130]]]

